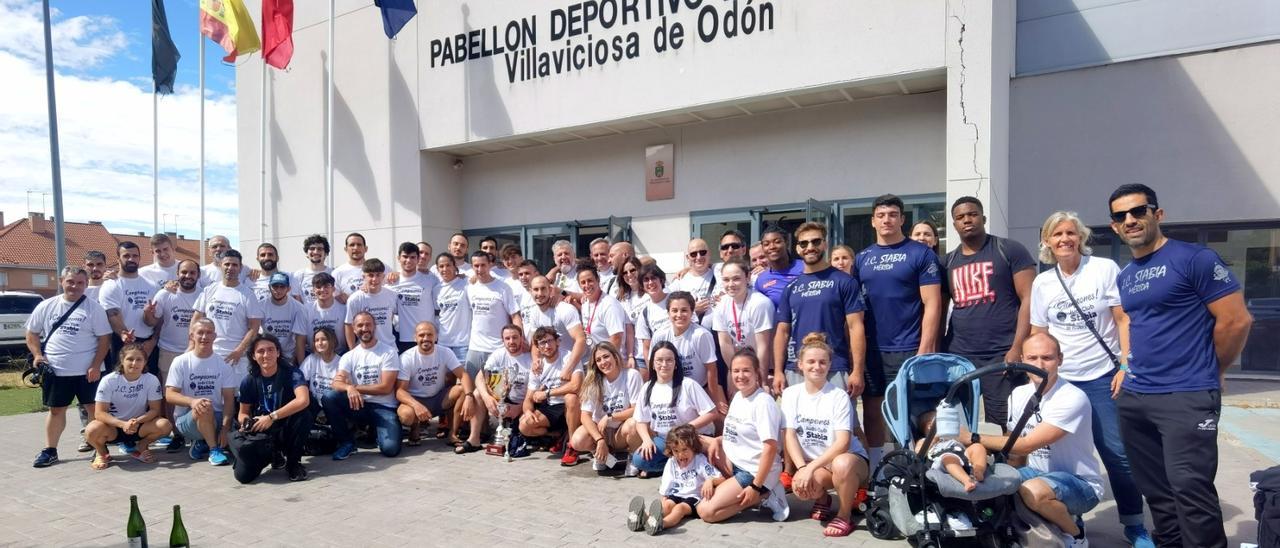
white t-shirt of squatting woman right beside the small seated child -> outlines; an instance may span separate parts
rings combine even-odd
[[[771,478],[777,478],[782,471],[781,430],[782,410],[772,396],[762,389],[756,389],[751,396],[739,392],[728,405],[728,415],[724,416],[721,447],[733,466],[755,474],[764,453],[764,442],[778,440],[778,451],[769,472]],[[765,481],[765,485],[768,484],[769,481]]]

